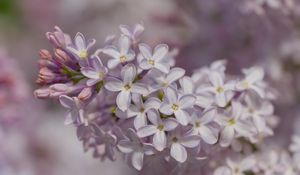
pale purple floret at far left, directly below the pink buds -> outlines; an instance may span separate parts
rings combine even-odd
[[[77,97],[68,97],[61,95],[59,97],[61,105],[68,109],[65,124],[82,124],[85,123],[83,104]],[[86,123],[85,123],[86,124]]]

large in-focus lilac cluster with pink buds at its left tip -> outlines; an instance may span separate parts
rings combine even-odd
[[[141,24],[120,29],[94,49],[94,39],[71,40],[55,27],[46,34],[54,53],[40,52],[36,97],[59,99],[65,123],[95,157],[114,160],[118,150],[137,170],[153,159],[175,167],[273,134],[274,95],[262,68],[228,75],[219,60],[187,76],[168,45],[141,43]]]

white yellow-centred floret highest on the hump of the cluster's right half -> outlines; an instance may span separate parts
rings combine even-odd
[[[211,86],[199,88],[197,93],[209,92],[215,96],[215,102],[220,107],[225,107],[232,98],[232,91],[234,90],[234,83],[225,83],[224,76],[219,72],[211,72],[209,74],[209,81]]]

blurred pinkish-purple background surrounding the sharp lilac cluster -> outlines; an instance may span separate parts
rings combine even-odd
[[[0,175],[136,173],[121,158],[100,162],[84,154],[60,105],[32,95],[38,52],[50,48],[45,33],[55,25],[102,47],[120,24],[136,23],[150,45],[178,48],[176,65],[188,74],[218,59],[228,60],[229,73],[263,66],[278,96],[278,144],[297,130],[298,0],[0,0]]]

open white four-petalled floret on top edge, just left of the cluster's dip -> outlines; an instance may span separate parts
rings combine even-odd
[[[161,72],[167,74],[170,71],[170,66],[163,62],[169,51],[169,47],[166,44],[159,44],[152,49],[146,44],[139,44],[139,50],[144,57],[140,64],[140,67],[144,70],[155,68]]]

